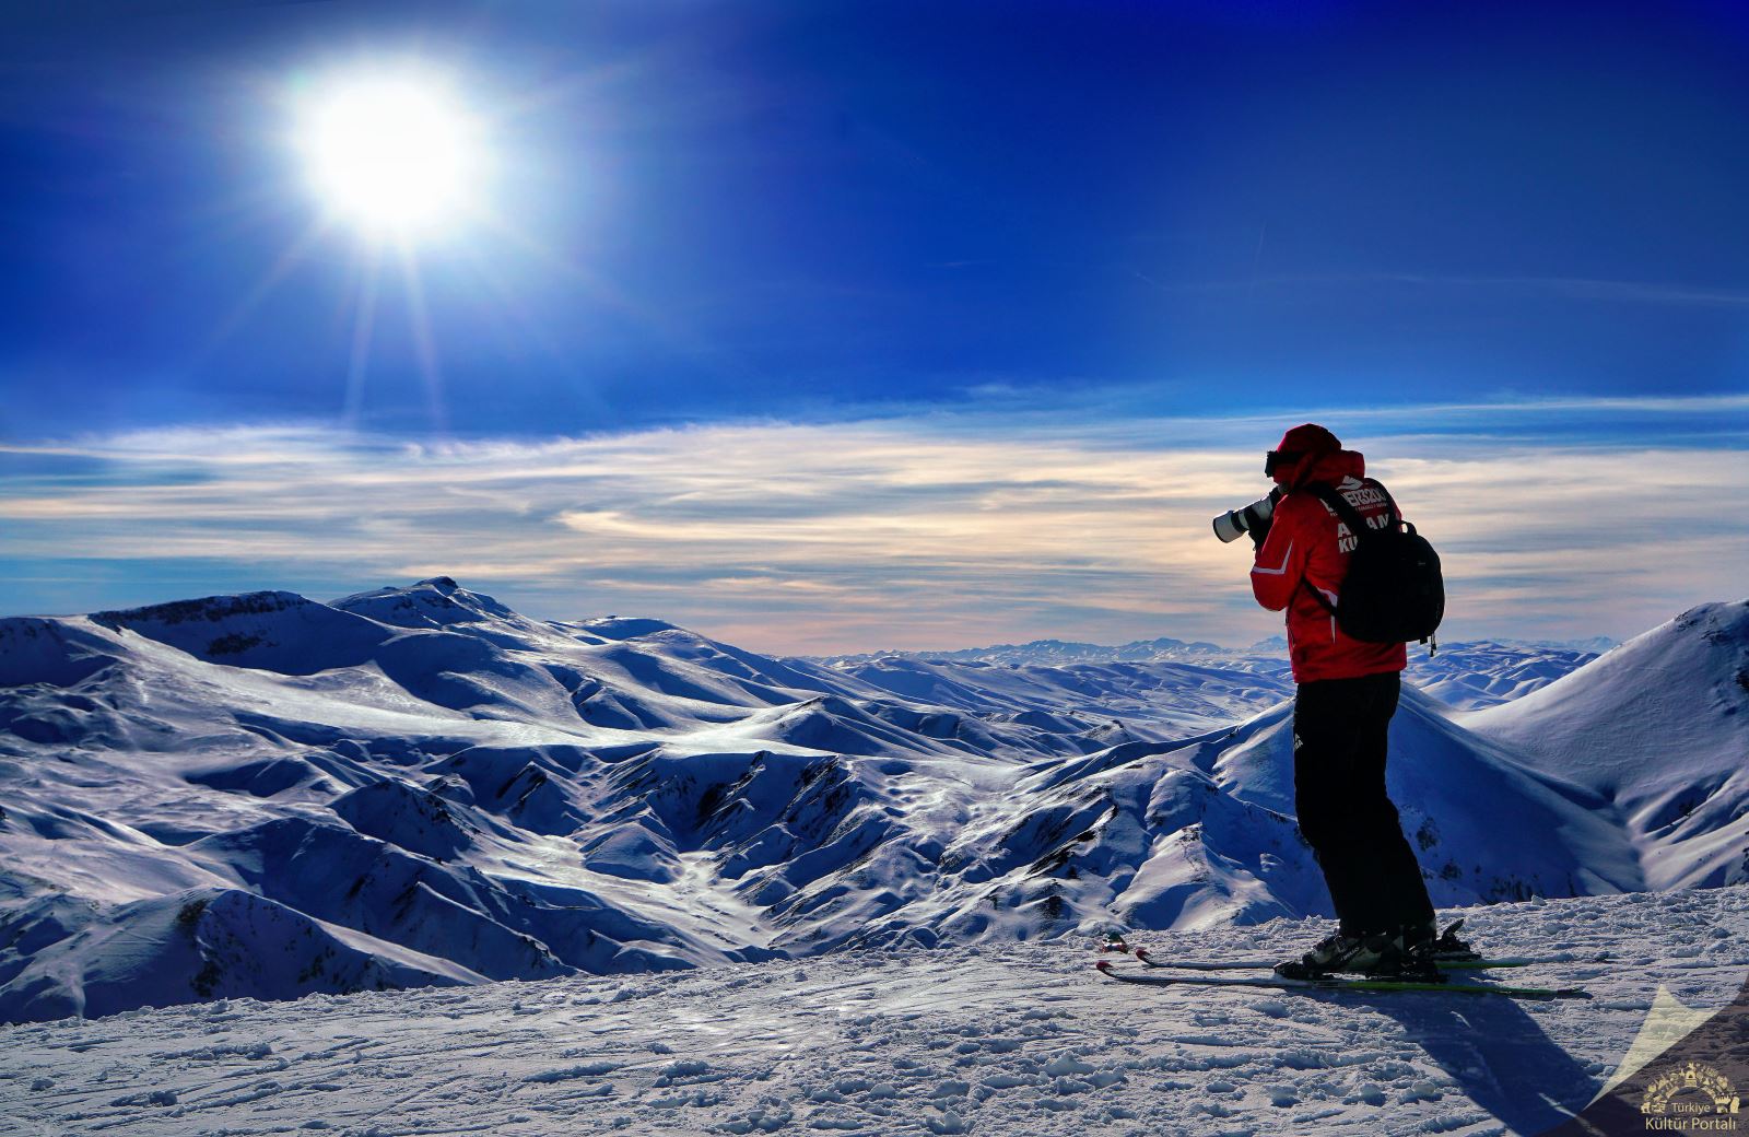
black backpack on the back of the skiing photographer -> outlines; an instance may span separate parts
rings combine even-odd
[[[1385,495],[1383,528],[1368,525],[1361,511],[1343,500],[1334,486],[1324,483],[1303,486],[1307,493],[1336,511],[1355,541],[1354,551],[1348,553],[1348,575],[1341,581],[1340,603],[1331,603],[1310,584],[1307,591],[1336,617],[1336,626],[1355,640],[1425,644],[1445,616],[1439,555],[1413,525],[1403,520],[1389,490],[1371,478],[1364,485]],[[1434,644],[1438,645],[1438,640]]]

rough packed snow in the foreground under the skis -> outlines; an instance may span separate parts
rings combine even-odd
[[[3,1027],[0,1118],[129,1137],[1541,1134],[1597,1095],[1660,988],[1705,1013],[1749,974],[1746,887],[1453,915],[1490,953],[1571,957],[1515,974],[1597,997],[1139,995],[1093,971],[1093,938],[847,952]],[[1327,929],[1147,943],[1216,960]]]

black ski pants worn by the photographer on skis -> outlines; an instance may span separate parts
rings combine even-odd
[[[1294,805],[1348,936],[1429,924],[1432,901],[1385,794],[1385,749],[1397,710],[1396,672],[1300,684],[1294,698]]]

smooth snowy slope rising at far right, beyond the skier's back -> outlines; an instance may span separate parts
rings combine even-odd
[[[1649,887],[1749,880],[1749,600],[1691,609],[1462,722],[1604,798]]]

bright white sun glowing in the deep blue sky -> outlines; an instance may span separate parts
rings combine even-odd
[[[296,129],[317,199],[371,240],[441,234],[481,205],[481,124],[437,77],[332,77],[301,101]]]

